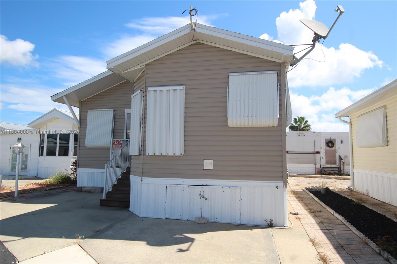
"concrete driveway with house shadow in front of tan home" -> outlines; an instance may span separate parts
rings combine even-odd
[[[79,244],[98,263],[318,263],[295,219],[291,229],[200,225],[139,218],[100,207],[100,197],[65,191],[2,201],[0,239],[19,261]]]

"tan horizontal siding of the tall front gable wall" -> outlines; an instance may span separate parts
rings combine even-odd
[[[143,177],[282,181],[285,126],[281,111],[277,127],[229,128],[227,124],[228,74],[272,70],[279,71],[280,83],[284,70],[280,63],[199,43],[147,64],[146,89],[185,86],[185,155],[144,155]],[[280,95],[280,105],[281,100]],[[146,105],[145,96],[145,113]],[[144,153],[145,140],[144,131]],[[214,170],[203,170],[203,159],[213,159]],[[133,163],[137,162],[134,158]]]

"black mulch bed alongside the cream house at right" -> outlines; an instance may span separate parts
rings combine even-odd
[[[397,259],[396,222],[333,191],[321,194],[319,189],[307,190]]]

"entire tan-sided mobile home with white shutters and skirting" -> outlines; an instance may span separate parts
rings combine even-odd
[[[197,23],[107,61],[52,96],[80,109],[78,185],[142,217],[287,226],[292,52]]]

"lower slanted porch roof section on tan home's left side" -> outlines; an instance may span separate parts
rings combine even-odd
[[[105,71],[58,94],[54,94],[51,96],[51,100],[57,103],[65,103],[63,96],[66,96],[70,105],[79,107],[79,101],[87,99],[124,81],[125,79],[123,77],[111,71]]]

